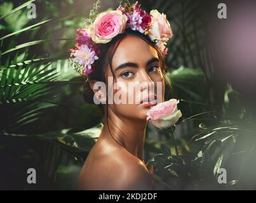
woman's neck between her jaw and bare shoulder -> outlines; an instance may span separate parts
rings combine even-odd
[[[128,152],[143,161],[147,121],[118,117],[113,112],[109,112],[108,124],[109,128],[107,126],[107,117],[105,116],[102,136],[111,140],[114,138],[121,147],[124,147]]]

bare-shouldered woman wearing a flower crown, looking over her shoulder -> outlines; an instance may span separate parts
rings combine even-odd
[[[159,33],[161,27],[158,26],[158,33],[150,33],[149,25],[152,32],[152,25],[159,23],[159,18],[153,18],[156,15],[150,16],[139,7],[138,3],[128,10],[127,5],[126,9],[119,6],[112,13],[98,15],[84,32],[78,30],[78,44],[76,49],[71,50],[71,61],[77,66],[81,65],[81,73],[88,78],[84,84],[85,100],[93,103],[97,98],[104,112],[104,128],[79,175],[77,185],[81,190],[152,190],[155,186],[152,171],[145,166],[143,157],[146,118],[149,108],[156,105],[156,99],[164,100],[165,85],[161,86],[162,96],[159,99],[156,98],[156,84],[165,83],[167,50],[164,45],[166,39],[172,36],[172,30],[165,16],[157,13],[164,17],[165,32]],[[142,16],[140,22],[132,22],[134,18],[129,15],[138,14]],[[116,22],[121,22],[120,27]],[[164,36],[161,38],[163,41],[152,41],[157,34]],[[93,45],[85,43],[91,52],[81,46],[81,37],[91,40]],[[87,53],[82,53],[81,49],[86,49]],[[97,86],[95,88],[98,81],[108,84],[111,77],[113,85],[107,91]],[[125,87],[114,88],[118,82],[125,84]],[[129,82],[147,82],[154,87],[140,86],[140,91],[130,91],[127,88]],[[126,102],[109,103],[109,90],[114,95],[121,93]],[[146,97],[144,93],[147,93]],[[128,98],[132,98],[133,102],[128,103]],[[139,103],[135,102],[137,98],[142,98]]]

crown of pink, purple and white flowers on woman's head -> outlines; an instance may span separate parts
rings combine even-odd
[[[137,30],[149,36],[164,55],[167,54],[166,43],[173,33],[166,15],[158,10],[147,13],[142,11],[138,2],[130,6],[129,1],[120,3],[116,10],[98,14],[99,4],[99,0],[93,4],[84,29],[76,30],[75,48],[69,49],[69,62],[76,72],[84,76],[90,74],[95,67],[95,60],[98,60],[100,44],[109,43],[115,36],[125,32],[125,29]]]

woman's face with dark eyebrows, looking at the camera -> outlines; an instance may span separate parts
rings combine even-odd
[[[114,53],[112,67],[116,81],[111,86],[113,103],[109,108],[120,118],[145,120],[149,108],[162,102],[165,92],[156,49],[140,37],[126,36]],[[110,69],[106,75],[110,80]]]

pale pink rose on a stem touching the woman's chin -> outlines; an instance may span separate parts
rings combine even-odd
[[[152,107],[147,112],[147,121],[150,120],[158,128],[173,126],[182,116],[182,113],[177,108],[178,103],[179,100],[171,99]]]

